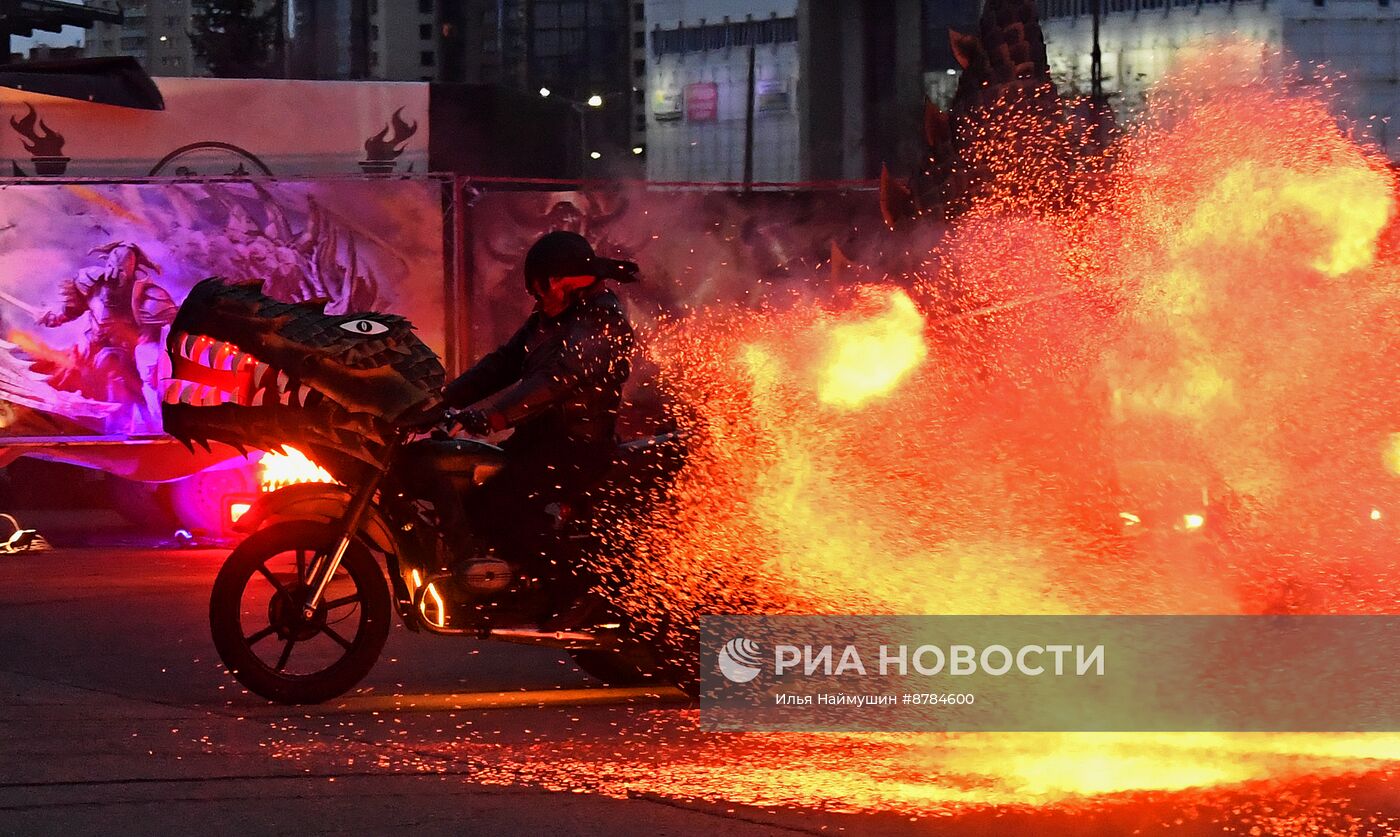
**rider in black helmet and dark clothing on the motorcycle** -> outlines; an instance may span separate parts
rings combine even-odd
[[[599,258],[577,232],[540,237],[525,255],[535,311],[442,392],[468,432],[514,430],[505,469],[470,508],[500,546],[525,547],[546,507],[567,508],[612,462],[633,332],[605,279],[636,281],[637,265]]]

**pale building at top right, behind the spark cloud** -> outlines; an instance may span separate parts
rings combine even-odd
[[[1039,0],[1051,78],[1089,92],[1092,0]],[[1389,0],[1102,0],[1103,91],[1120,119],[1140,112],[1183,53],[1212,41],[1259,45],[1259,60],[1296,60],[1333,78],[1348,120],[1400,158],[1400,4]]]

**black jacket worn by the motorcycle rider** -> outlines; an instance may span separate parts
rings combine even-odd
[[[512,449],[539,455],[615,444],[622,386],[631,374],[631,323],[601,284],[556,318],[539,311],[456,381],[442,399],[514,427]]]

